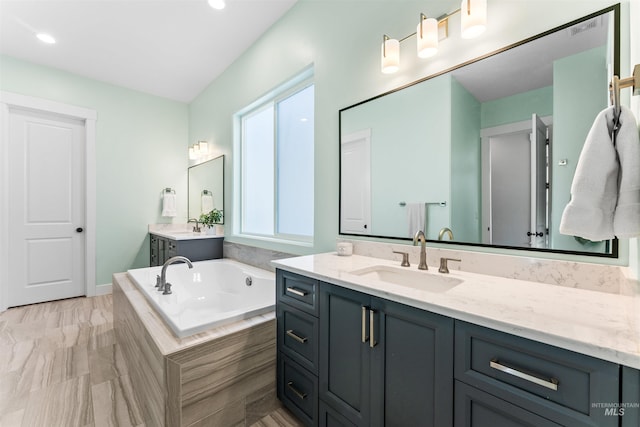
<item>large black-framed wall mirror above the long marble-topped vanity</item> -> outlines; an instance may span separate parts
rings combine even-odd
[[[340,234],[617,257],[558,232],[617,71],[613,6],[340,111]]]

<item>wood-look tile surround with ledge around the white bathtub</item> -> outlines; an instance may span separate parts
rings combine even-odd
[[[148,425],[244,426],[281,408],[274,312],[179,339],[126,273],[113,289],[116,339]]]

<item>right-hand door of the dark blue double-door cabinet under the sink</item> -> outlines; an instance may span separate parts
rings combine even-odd
[[[377,425],[453,424],[453,319],[373,298],[372,409]]]

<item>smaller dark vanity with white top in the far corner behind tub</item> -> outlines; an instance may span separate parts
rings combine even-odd
[[[171,257],[182,255],[191,261],[222,258],[224,236],[193,233],[190,231],[150,232],[149,264],[164,264]]]

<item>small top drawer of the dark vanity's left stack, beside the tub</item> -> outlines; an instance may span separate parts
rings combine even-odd
[[[318,316],[318,281],[288,271],[276,270],[277,296],[281,302]]]

